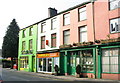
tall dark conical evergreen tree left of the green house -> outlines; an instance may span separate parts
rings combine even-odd
[[[3,39],[2,57],[11,57],[11,68],[13,67],[13,58],[18,57],[19,30],[16,20],[13,19]]]

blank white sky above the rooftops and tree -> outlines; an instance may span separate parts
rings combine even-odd
[[[0,1],[0,49],[3,37],[12,19],[20,29],[48,17],[48,8],[58,13],[88,0],[1,0]]]

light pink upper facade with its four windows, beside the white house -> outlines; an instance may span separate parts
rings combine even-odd
[[[68,9],[60,16],[60,44],[94,41],[92,3]],[[84,17],[80,18],[80,14]],[[85,14],[85,15],[84,15]],[[80,30],[82,28],[82,30]],[[65,42],[64,34],[68,31],[69,39]],[[85,37],[80,36],[80,31]],[[67,37],[66,37],[67,38]]]

